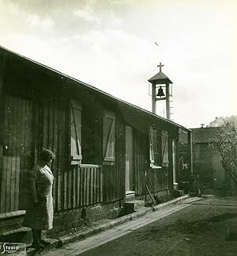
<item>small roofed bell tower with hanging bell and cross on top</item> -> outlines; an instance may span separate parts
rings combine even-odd
[[[161,71],[161,68],[164,67],[160,63],[157,67],[160,67],[160,72],[156,75],[149,78],[149,82],[152,84],[152,113],[156,114],[156,101],[165,101],[166,105],[166,118],[171,120],[171,106],[170,106],[170,97],[171,97],[171,80]],[[158,85],[158,86],[157,86]],[[163,86],[162,86],[163,85]],[[165,94],[163,91],[165,89]]]

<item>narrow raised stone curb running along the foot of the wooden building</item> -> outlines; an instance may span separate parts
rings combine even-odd
[[[161,208],[166,208],[171,204],[178,204],[181,201],[186,200],[187,198],[189,198],[188,195],[178,197],[171,201],[167,201],[163,204],[154,205],[152,206],[152,208],[145,208],[141,211],[133,212],[133,213],[130,213],[129,215],[119,217],[118,219],[111,220],[107,224],[100,224],[96,227],[91,227],[87,231],[78,231],[74,234],[64,235],[62,237],[59,237],[58,239],[48,239],[51,242],[50,249],[54,247],[59,248],[59,247],[65,246],[66,244],[85,239],[91,235],[96,235],[102,231],[106,231],[107,229],[111,229],[112,227],[119,226],[120,224],[124,224],[130,220],[136,220],[141,216],[145,216],[145,214],[148,212],[156,212]]]

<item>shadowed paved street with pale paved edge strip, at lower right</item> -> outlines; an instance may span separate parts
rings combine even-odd
[[[192,199],[190,199],[192,200]],[[237,255],[237,199],[186,201],[54,250],[53,255]]]

